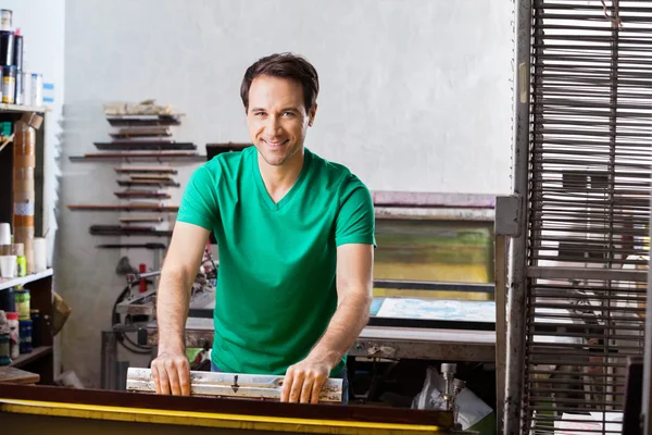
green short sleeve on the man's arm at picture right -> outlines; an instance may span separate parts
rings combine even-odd
[[[341,189],[335,243],[376,247],[374,201],[367,187],[354,175],[349,176]]]

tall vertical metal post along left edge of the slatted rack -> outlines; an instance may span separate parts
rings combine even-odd
[[[527,198],[530,115],[531,0],[515,1],[513,195],[519,201],[521,231],[511,238],[507,277],[507,343],[504,434],[521,434],[525,372]]]

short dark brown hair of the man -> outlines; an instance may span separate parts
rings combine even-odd
[[[249,110],[249,88],[251,82],[258,76],[268,75],[273,77],[290,78],[303,87],[303,103],[305,111],[310,111],[317,100],[319,94],[319,77],[315,67],[304,58],[293,53],[276,53],[259,59],[244,72],[240,97],[244,110]]]

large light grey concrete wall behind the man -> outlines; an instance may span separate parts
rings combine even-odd
[[[242,74],[278,51],[305,55],[321,74],[308,147],[369,188],[506,192],[511,18],[512,3],[494,0],[68,0],[63,203],[114,202],[112,164],[67,161],[108,139],[103,102],[173,104],[187,114],[177,139],[202,152],[206,142],[246,141]],[[99,382],[99,331],[121,289],[122,253],[95,249],[88,226],[116,219],[63,210],[58,273],[75,307],[63,360],[90,385]]]

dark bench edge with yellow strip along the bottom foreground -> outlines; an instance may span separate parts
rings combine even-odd
[[[36,433],[47,427],[50,435],[180,431],[184,434],[471,434],[453,432],[452,419],[448,411],[0,386],[0,421],[8,433]]]

